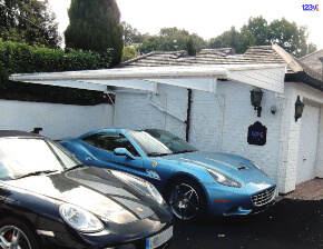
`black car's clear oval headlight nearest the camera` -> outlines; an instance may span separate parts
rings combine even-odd
[[[96,232],[104,229],[102,222],[97,217],[74,205],[61,205],[59,212],[62,219],[78,231]]]

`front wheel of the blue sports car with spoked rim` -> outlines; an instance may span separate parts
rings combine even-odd
[[[170,210],[180,220],[193,222],[200,220],[207,210],[204,190],[192,179],[177,179],[166,191]]]

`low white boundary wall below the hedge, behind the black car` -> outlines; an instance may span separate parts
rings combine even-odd
[[[1,130],[31,131],[51,139],[76,137],[112,126],[114,106],[72,106],[16,100],[0,100]]]

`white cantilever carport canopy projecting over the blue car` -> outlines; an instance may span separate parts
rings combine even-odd
[[[216,80],[236,80],[283,93],[285,64],[120,68],[20,73],[12,81],[106,91],[107,86],[157,91],[157,83],[214,92]],[[197,80],[198,79],[198,80]]]

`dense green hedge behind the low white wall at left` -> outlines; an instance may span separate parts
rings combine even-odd
[[[0,98],[72,104],[109,102],[102,92],[8,80],[12,73],[90,70],[108,64],[109,59],[91,51],[39,48],[0,39]]]

